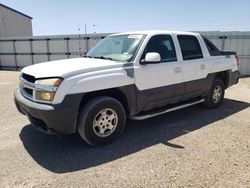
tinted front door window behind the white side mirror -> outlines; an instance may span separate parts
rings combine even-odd
[[[173,39],[170,35],[156,35],[149,41],[141,59],[146,53],[157,52],[161,56],[161,62],[177,61]]]

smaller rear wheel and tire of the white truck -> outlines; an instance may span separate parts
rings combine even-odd
[[[218,108],[224,100],[225,85],[222,80],[215,78],[204,104],[207,108]]]

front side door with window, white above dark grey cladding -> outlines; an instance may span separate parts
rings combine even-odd
[[[152,36],[142,54],[157,52],[161,62],[135,66],[135,84],[138,89],[139,110],[149,110],[180,100],[183,94],[181,63],[177,61],[176,49],[171,35]]]

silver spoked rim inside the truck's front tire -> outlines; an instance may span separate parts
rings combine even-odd
[[[118,124],[117,113],[111,108],[106,108],[97,113],[93,122],[93,130],[99,137],[111,135]]]

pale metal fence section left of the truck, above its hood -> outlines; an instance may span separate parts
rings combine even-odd
[[[0,66],[19,69],[28,65],[84,55],[104,34],[19,37],[0,39]]]

